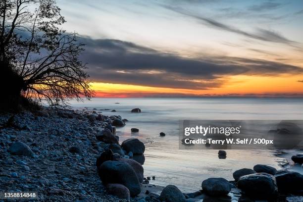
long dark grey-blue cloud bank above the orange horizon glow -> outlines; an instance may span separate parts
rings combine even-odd
[[[239,57],[186,58],[119,40],[80,38],[94,81],[153,87],[209,89],[230,75],[303,73],[297,66]]]

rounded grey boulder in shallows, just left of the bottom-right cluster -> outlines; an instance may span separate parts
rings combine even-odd
[[[209,196],[224,196],[230,192],[231,187],[226,179],[211,177],[202,182],[202,189]]]

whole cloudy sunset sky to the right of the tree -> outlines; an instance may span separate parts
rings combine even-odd
[[[302,0],[57,0],[97,97],[303,97]]]

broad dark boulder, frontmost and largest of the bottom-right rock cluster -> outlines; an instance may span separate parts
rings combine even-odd
[[[237,185],[247,196],[254,199],[270,199],[278,192],[275,177],[267,173],[244,175],[240,177]]]

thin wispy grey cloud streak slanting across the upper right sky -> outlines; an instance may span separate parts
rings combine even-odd
[[[274,32],[274,31],[269,31],[269,30],[264,30],[264,29],[257,29],[256,33],[249,33],[249,32],[240,30],[238,28],[229,26],[227,24],[218,22],[216,20],[206,18],[206,17],[203,17],[201,15],[194,14],[194,13],[189,12],[189,11],[183,9],[183,8],[180,8],[180,7],[172,7],[172,6],[169,6],[169,5],[163,5],[163,7],[167,8],[169,10],[175,11],[177,13],[183,14],[185,16],[192,17],[196,20],[199,20],[200,22],[202,22],[203,24],[205,24],[207,26],[217,28],[217,29],[220,29],[220,30],[225,30],[225,31],[228,31],[228,32],[233,32],[233,33],[236,33],[236,34],[239,34],[239,35],[242,35],[242,36],[245,36],[245,37],[249,37],[249,38],[252,38],[252,39],[257,39],[257,40],[261,40],[261,41],[265,41],[265,42],[283,43],[283,44],[295,43],[294,41],[291,41],[291,40],[283,37],[282,35]]]

